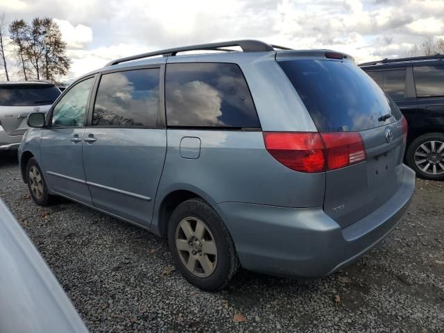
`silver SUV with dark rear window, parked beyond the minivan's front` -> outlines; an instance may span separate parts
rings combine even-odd
[[[0,151],[17,150],[28,130],[28,114],[48,111],[59,95],[58,87],[46,81],[0,83]]]

